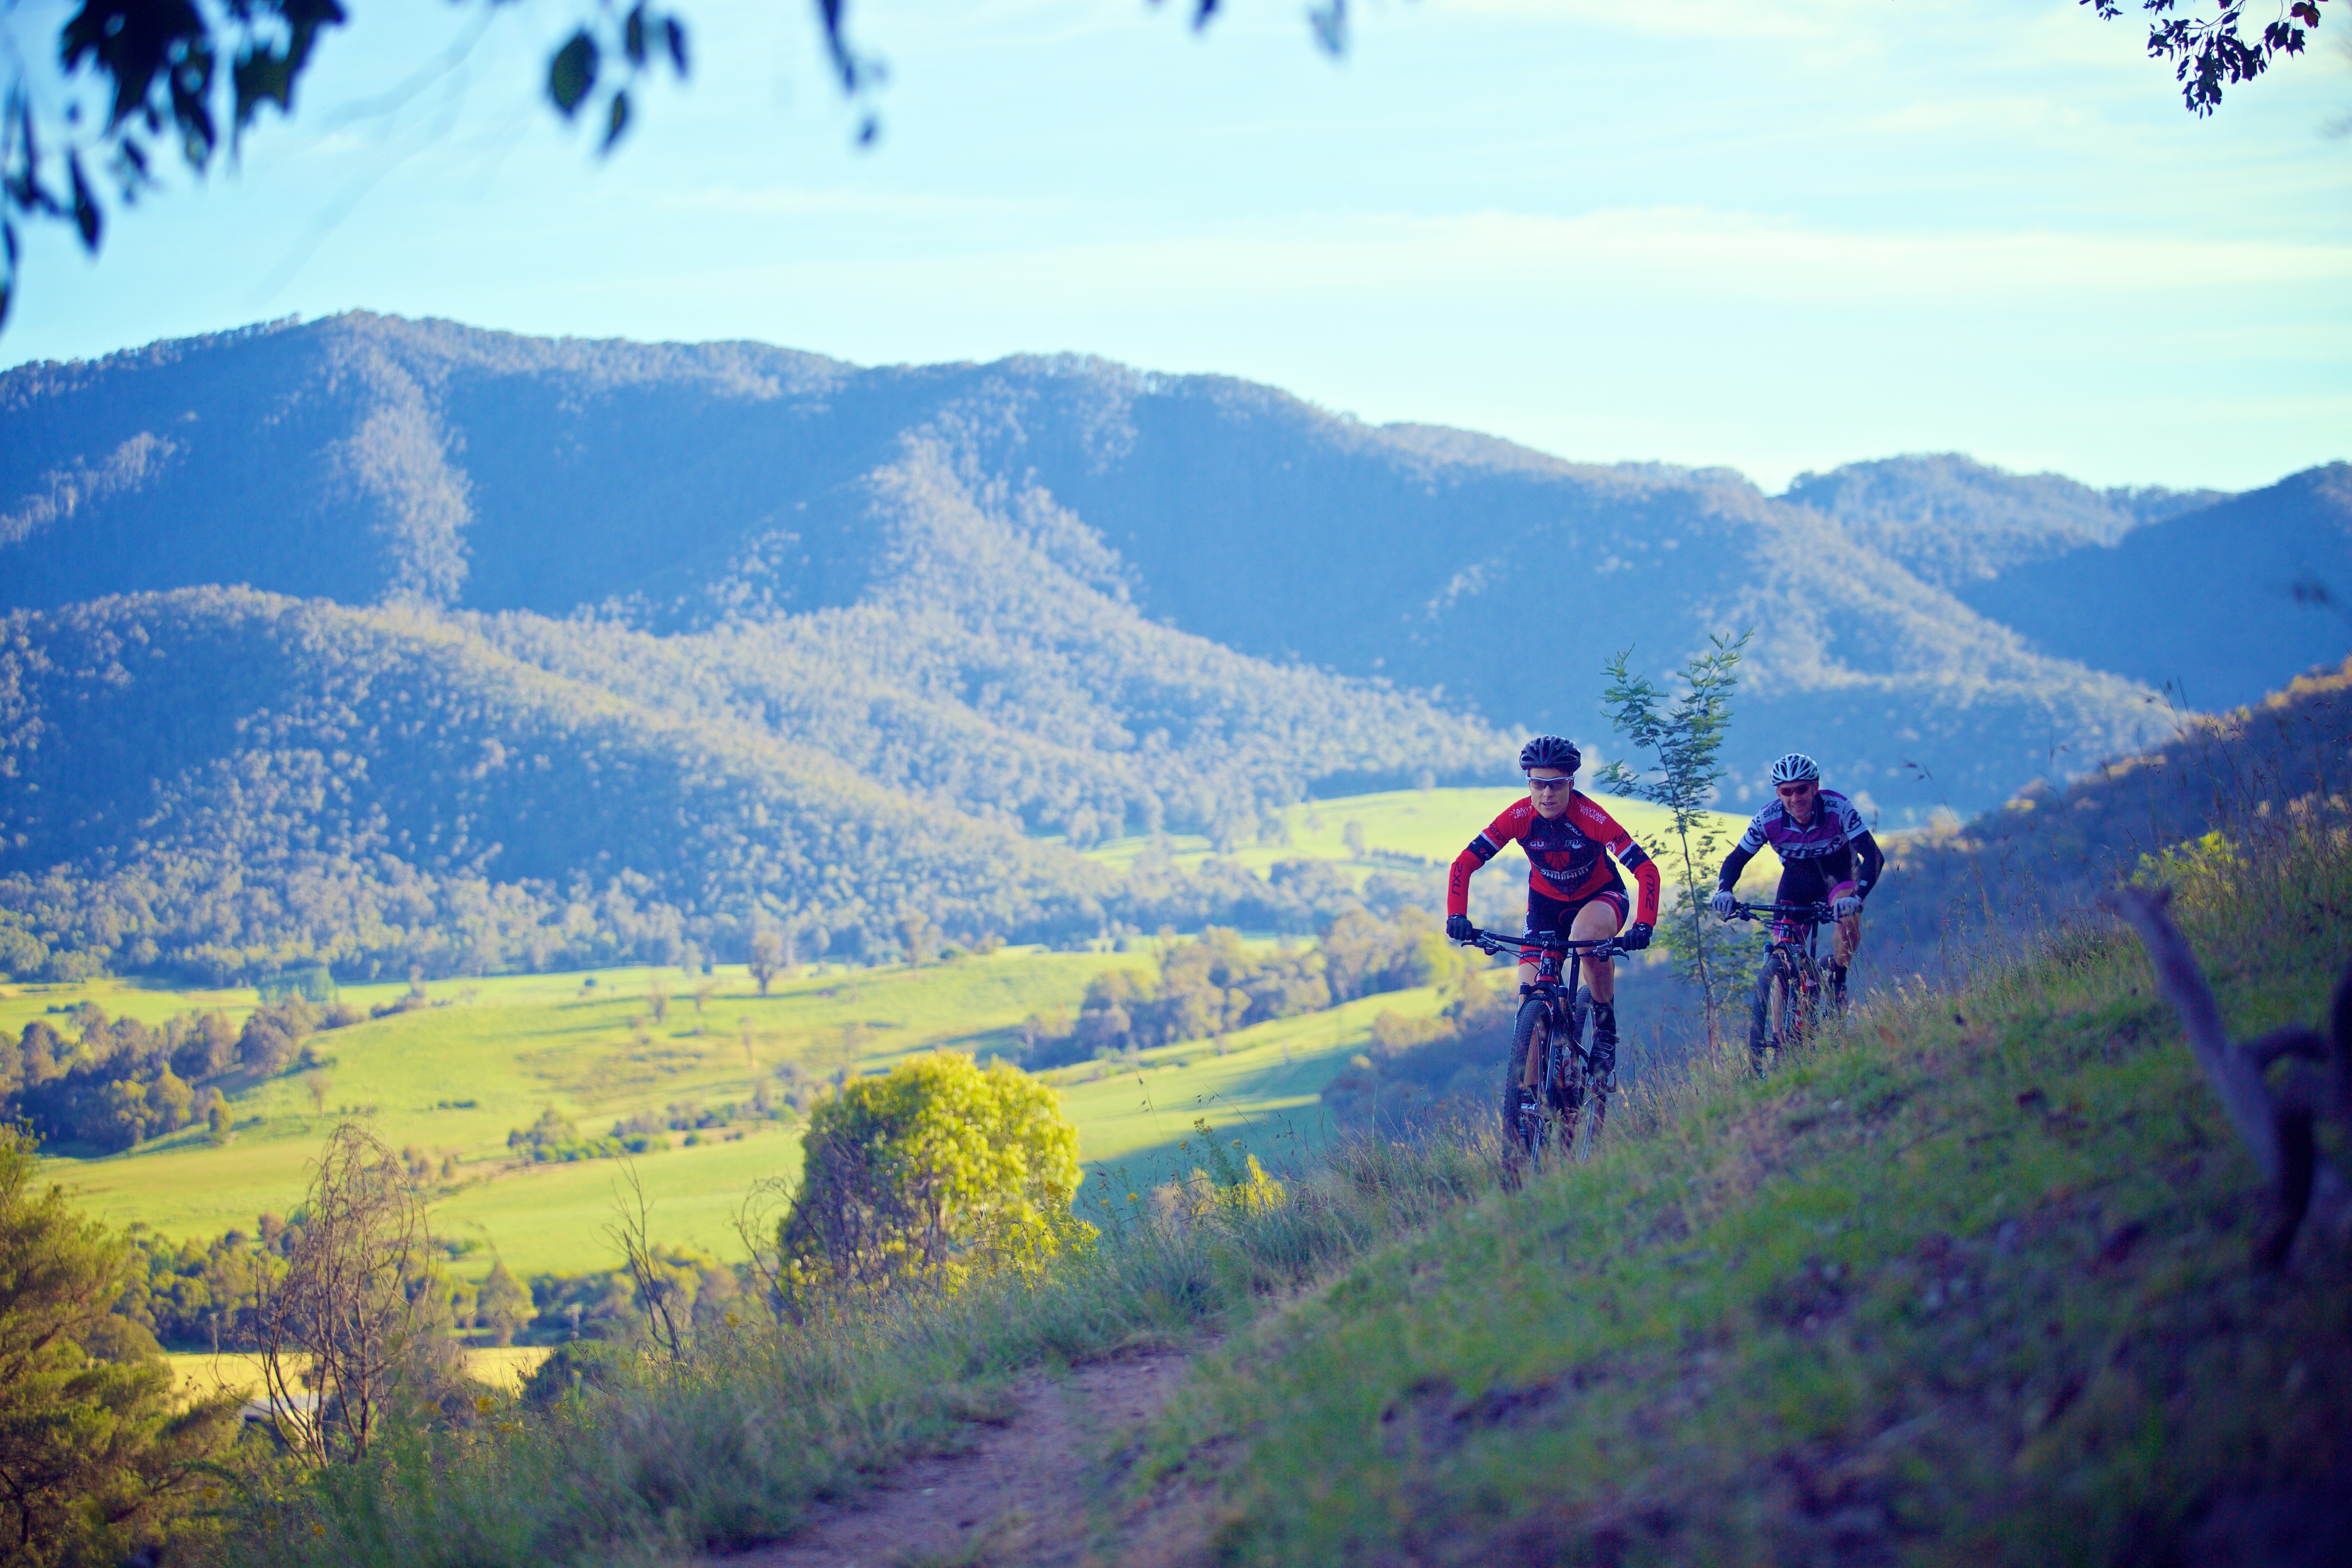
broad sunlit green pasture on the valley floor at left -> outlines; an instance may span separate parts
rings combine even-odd
[[[461,1267],[487,1269],[492,1248],[524,1272],[602,1267],[602,1225],[619,1168],[612,1161],[515,1168],[506,1135],[541,1110],[572,1117],[583,1133],[604,1133],[635,1112],[659,1114],[691,1100],[748,1103],[762,1079],[781,1091],[783,1065],[826,1077],[941,1046],[985,1056],[1028,1013],[1075,1009],[1096,971],[1143,961],[1023,947],[920,971],[823,966],[779,978],[769,997],[757,994],[741,966],[715,976],[607,969],[435,983],[426,1009],[313,1034],[308,1044],[325,1058],[315,1074],[289,1072],[242,1088],[230,1079],[235,1135],[226,1147],[186,1128],[108,1159],[54,1159],[52,1171],[106,1220],[212,1237],[252,1227],[261,1211],[285,1213],[299,1201],[306,1164],[327,1128],[343,1114],[365,1114],[393,1147],[416,1150],[435,1168],[445,1157],[459,1161],[435,1204],[435,1227],[452,1241],[480,1244]],[[663,1020],[654,1018],[656,983],[670,990]],[[703,983],[713,992],[696,1009],[694,990]],[[252,992],[179,994],[115,980],[7,990],[0,1009],[19,1016],[82,997],[151,1018],[188,1006],[254,1006]],[[402,990],[355,985],[343,987],[343,999],[369,1006]],[[731,1135],[739,1138],[720,1143]],[[774,1121],[736,1121],[701,1138],[713,1143],[647,1154],[637,1168],[661,1239],[717,1246],[750,1182],[797,1168],[797,1138]],[[682,1145],[684,1133],[670,1140]]]

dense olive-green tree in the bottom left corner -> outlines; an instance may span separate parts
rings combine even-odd
[[[186,1502],[238,1396],[176,1410],[155,1338],[115,1316],[129,1248],[40,1185],[0,1126],[0,1556],[122,1559]]]

